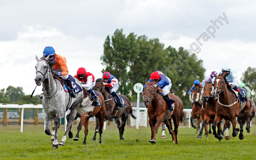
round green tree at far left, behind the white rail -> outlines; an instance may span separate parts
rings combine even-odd
[[[10,103],[17,103],[18,100],[25,95],[22,87],[9,86],[6,88],[5,97],[10,99]],[[2,91],[2,90],[1,90]],[[4,90],[3,90],[4,91]]]

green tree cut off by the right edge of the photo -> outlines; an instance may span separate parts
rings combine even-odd
[[[251,89],[251,98],[256,100],[256,68],[248,67],[247,70],[243,73],[241,81]]]

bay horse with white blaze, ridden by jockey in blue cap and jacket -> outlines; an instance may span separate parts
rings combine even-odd
[[[190,98],[190,103],[192,106],[192,112],[191,112],[191,117],[190,117],[190,122],[193,128],[197,128],[195,133],[198,133],[200,131],[200,123],[201,123],[201,118],[200,118],[200,108],[199,108],[199,88],[197,89],[190,89],[191,93],[189,95]],[[193,124],[193,119],[197,120],[197,126]]]

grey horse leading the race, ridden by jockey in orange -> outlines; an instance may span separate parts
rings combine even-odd
[[[71,129],[72,122],[76,116],[78,107],[83,107],[81,104],[83,101],[83,92],[77,93],[76,98],[71,98],[69,92],[65,92],[62,84],[59,80],[53,78],[51,62],[48,61],[49,56],[39,59],[36,56],[37,64],[36,68],[36,85],[43,84],[44,96],[42,99],[42,106],[45,112],[45,130],[47,135],[52,136],[52,148],[57,149],[59,145],[65,145],[66,136]],[[49,65],[50,64],[50,65]],[[82,88],[80,82],[74,78],[76,83]],[[75,87],[73,87],[75,88]],[[69,107],[70,106],[70,107]],[[61,141],[58,143],[58,128],[60,125],[60,120],[65,116],[66,108],[70,109],[70,121],[67,124],[66,132],[62,137]],[[55,129],[51,132],[50,125],[54,119]]]

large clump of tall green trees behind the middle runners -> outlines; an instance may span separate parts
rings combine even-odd
[[[182,54],[185,62],[178,56]],[[181,66],[175,67],[175,70],[168,69],[174,66],[177,59]],[[134,33],[126,37],[122,29],[117,29],[111,39],[107,36],[101,61],[106,66],[102,72],[108,71],[119,79],[119,92],[129,95],[129,98],[136,95],[133,85],[144,83],[145,73],[148,73],[148,80],[153,71],[164,72],[172,80],[171,92],[178,95],[187,107],[190,106],[187,95],[189,88],[195,79],[203,80],[205,72],[203,61],[198,60],[195,54],[185,57],[182,47],[178,51],[171,46],[164,49],[164,44],[158,38],[148,40],[145,35],[137,38]]]

